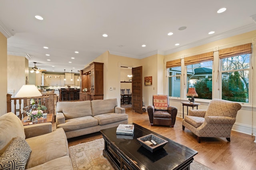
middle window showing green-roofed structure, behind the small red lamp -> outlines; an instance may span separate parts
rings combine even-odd
[[[194,87],[200,99],[212,99],[212,61],[187,65],[187,87]]]

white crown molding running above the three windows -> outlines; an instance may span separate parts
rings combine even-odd
[[[192,47],[197,47],[199,45],[204,45],[204,44],[207,44],[207,43],[211,43],[213,41],[218,41],[220,39],[232,37],[234,35],[246,33],[246,32],[253,31],[253,30],[256,30],[256,24],[255,23],[251,23],[249,25],[245,25],[243,27],[239,27],[239,28],[236,28],[236,29],[232,29],[230,31],[226,31],[224,33],[214,35],[214,36],[209,37],[209,38],[201,39],[199,41],[195,41],[193,43],[189,43],[187,45],[183,45],[183,46],[177,47],[175,49],[167,50],[167,51],[164,52],[164,55],[172,54],[172,53],[182,51],[182,50],[185,50],[185,49],[189,49],[189,48],[192,48]]]

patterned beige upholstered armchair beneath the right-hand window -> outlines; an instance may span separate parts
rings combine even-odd
[[[189,110],[182,120],[182,129],[192,131],[198,143],[201,137],[225,137],[230,142],[231,129],[240,109],[239,103],[212,99],[207,110]]]

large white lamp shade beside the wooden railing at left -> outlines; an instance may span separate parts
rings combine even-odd
[[[15,95],[16,98],[36,97],[42,96],[39,90],[34,84],[23,85],[18,93]]]

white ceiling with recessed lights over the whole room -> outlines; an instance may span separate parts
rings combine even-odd
[[[142,59],[255,30],[255,7],[256,0],[0,0],[0,31],[8,54],[28,54],[30,67],[77,72],[107,50]]]

